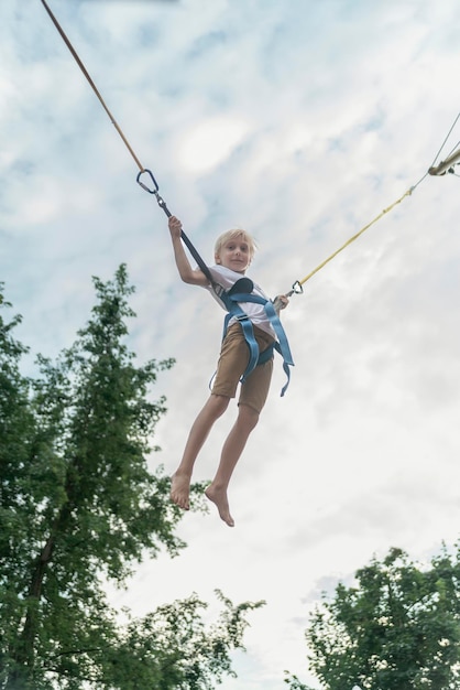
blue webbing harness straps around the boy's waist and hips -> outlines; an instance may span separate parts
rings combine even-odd
[[[248,279],[245,278],[241,279],[241,281],[243,280],[247,281]],[[281,391],[281,395],[284,396],[289,385],[289,379],[291,379],[289,367],[294,366],[294,360],[291,354],[291,348],[287,342],[286,333],[283,328],[280,316],[276,313],[273,302],[262,297],[259,297],[256,294],[252,294],[250,292],[239,292],[238,291],[240,288],[239,283],[241,281],[237,281],[232,290],[230,291],[223,290],[218,295],[219,299],[226,305],[226,309],[228,311],[228,314],[226,315],[226,319],[223,322],[223,337],[226,336],[229,322],[231,321],[231,319],[236,317],[237,321],[241,324],[241,328],[244,334],[244,339],[248,343],[248,347],[250,352],[249,363],[245,368],[245,371],[243,373],[241,377],[241,381],[244,381],[248,378],[248,376],[251,374],[251,371],[253,371],[258,365],[265,364],[265,362],[269,362],[273,357],[273,351],[276,349],[276,352],[283,357],[283,369],[287,378],[287,381]],[[247,283],[241,284],[241,288],[248,289]],[[234,289],[236,291],[233,291]],[[270,345],[262,353],[259,352],[259,345],[254,336],[254,328],[252,326],[252,322],[250,317],[248,316],[248,314],[241,309],[241,306],[239,305],[239,302],[253,302],[255,304],[262,304],[265,310],[265,314],[270,323],[272,324],[272,327],[276,334],[277,339],[274,343],[272,343],[272,345]]]

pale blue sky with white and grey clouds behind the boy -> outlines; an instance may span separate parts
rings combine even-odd
[[[236,527],[213,506],[187,513],[182,554],[110,591],[135,615],[196,592],[209,619],[217,587],[265,600],[222,690],[281,690],[284,669],[319,687],[304,632],[321,592],[391,547],[425,563],[459,537],[460,180],[425,176],[460,139],[458,122],[441,149],[460,110],[457,0],[48,3],[205,260],[217,235],[245,228],[249,274],[270,295],[416,187],[283,313],[292,382],[281,398],[276,362],[230,487]],[[179,281],[166,217],[40,0],[0,6],[0,279],[17,337],[57,356],[89,316],[91,277],[125,262],[138,360],[176,358],[153,390],[168,411],[152,466],[172,474],[223,312]]]

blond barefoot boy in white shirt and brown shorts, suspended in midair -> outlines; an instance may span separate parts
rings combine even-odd
[[[168,226],[174,257],[182,280],[193,285],[207,288],[224,306],[219,299],[219,289],[231,289],[244,276],[255,250],[252,237],[244,230],[229,230],[218,238],[215,247],[216,266],[209,268],[213,281],[210,283],[200,269],[194,270],[190,266],[180,239],[180,220],[172,216],[168,219]],[[218,288],[217,291],[216,287]],[[267,299],[255,284],[252,294]],[[281,295],[276,300],[276,309],[285,309],[287,303],[287,297]],[[275,332],[264,308],[252,302],[241,302],[240,305],[252,322],[255,341],[262,353],[275,341]],[[242,327],[237,319],[232,319],[222,342],[211,395],[190,429],[183,459],[172,477],[171,498],[184,510],[189,508],[189,486],[198,453],[213,423],[227,410],[230,398],[234,398],[248,362],[249,347]],[[227,488],[248,438],[256,425],[260,412],[265,405],[272,369],[273,356],[264,364],[258,365],[242,382],[237,421],[223,443],[216,476],[205,492],[207,498],[216,504],[221,519],[229,527],[233,527],[234,521],[230,515]]]

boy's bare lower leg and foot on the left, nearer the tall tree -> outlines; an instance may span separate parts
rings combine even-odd
[[[183,459],[173,474],[171,486],[171,499],[184,510],[189,508],[190,479],[197,455],[212,424],[226,411],[229,400],[211,393],[190,429]]]

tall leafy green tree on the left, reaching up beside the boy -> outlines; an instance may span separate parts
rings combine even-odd
[[[231,672],[229,653],[260,603],[222,596],[210,629],[195,595],[124,626],[108,605],[105,579],[122,585],[146,553],[185,545],[168,478],[149,468],[166,411],[150,389],[173,360],[135,366],[125,267],[94,281],[87,325],[56,364],[39,356],[35,379],[20,373],[20,317],[0,319],[0,688],[207,689]]]

